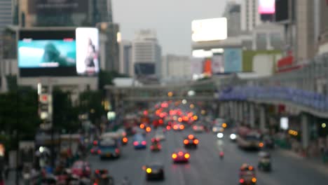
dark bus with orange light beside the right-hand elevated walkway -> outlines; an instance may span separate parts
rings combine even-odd
[[[257,130],[246,127],[238,128],[238,137],[236,138],[238,146],[242,149],[261,149],[264,143],[261,142],[261,134]]]

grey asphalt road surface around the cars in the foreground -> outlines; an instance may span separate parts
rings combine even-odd
[[[162,143],[163,150],[151,153],[149,148],[135,150],[132,144],[123,146],[123,156],[118,160],[100,160],[98,156],[88,157],[95,168],[106,168],[120,182],[127,176],[132,184],[238,184],[238,172],[242,163],[257,166],[256,151],[242,151],[227,137],[219,141],[212,133],[195,134],[200,140],[198,149],[191,150],[188,164],[173,164],[172,151],[182,148],[183,137],[191,130],[182,132],[169,131]],[[148,144],[153,133],[147,135]],[[226,134],[227,135],[227,134]],[[226,136],[225,135],[225,136]],[[131,138],[132,139],[132,138]],[[219,147],[224,149],[224,159],[219,158]],[[273,172],[257,172],[258,184],[327,184],[328,175],[301,163],[298,158],[282,155],[280,150],[272,151]],[[165,181],[147,182],[142,165],[160,162],[165,165]],[[116,183],[119,184],[119,183]]]

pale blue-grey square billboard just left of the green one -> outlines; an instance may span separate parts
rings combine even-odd
[[[224,71],[242,71],[242,50],[240,48],[224,48]]]

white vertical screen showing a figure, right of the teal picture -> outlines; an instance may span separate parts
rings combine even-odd
[[[76,28],[76,71],[93,75],[99,71],[99,32],[97,28]]]

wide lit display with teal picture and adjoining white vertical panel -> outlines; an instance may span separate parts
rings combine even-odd
[[[93,76],[97,74],[99,71],[98,35],[95,35],[97,32],[91,35],[86,34],[85,39],[81,34],[76,35],[78,29],[20,30],[18,40],[20,76]],[[90,40],[90,45],[84,44],[84,40]],[[78,46],[78,43],[83,44]],[[87,55],[89,61],[87,61]],[[87,66],[83,71],[78,68],[78,64],[82,62],[81,57],[84,59],[83,64]]]

